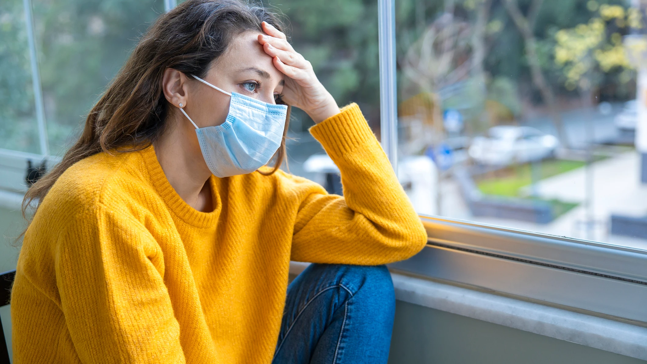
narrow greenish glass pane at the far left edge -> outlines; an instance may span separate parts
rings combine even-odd
[[[0,2],[0,148],[40,153],[22,0]]]

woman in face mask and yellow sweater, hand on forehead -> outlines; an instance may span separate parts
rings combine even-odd
[[[284,104],[317,123],[345,198],[278,170]],[[32,199],[14,363],[386,363],[378,265],[426,242],[358,107],[236,0],[160,16]],[[288,288],[290,260],[316,264]]]

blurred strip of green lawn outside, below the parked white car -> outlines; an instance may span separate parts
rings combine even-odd
[[[534,172],[537,179],[556,176],[584,166],[582,161],[551,159],[537,163]],[[532,165],[510,166],[503,170],[476,177],[476,185],[481,192],[488,195],[518,197],[521,187],[532,184]]]

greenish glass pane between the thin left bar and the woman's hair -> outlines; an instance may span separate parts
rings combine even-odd
[[[164,12],[164,2],[32,3],[50,153],[56,155],[78,137],[85,115],[141,34]]]

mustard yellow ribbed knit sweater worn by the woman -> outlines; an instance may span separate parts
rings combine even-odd
[[[36,212],[12,292],[14,363],[270,363],[290,260],[384,264],[426,233],[358,106],[311,128],[344,197],[278,171],[187,205],[155,150],[71,166]]]

